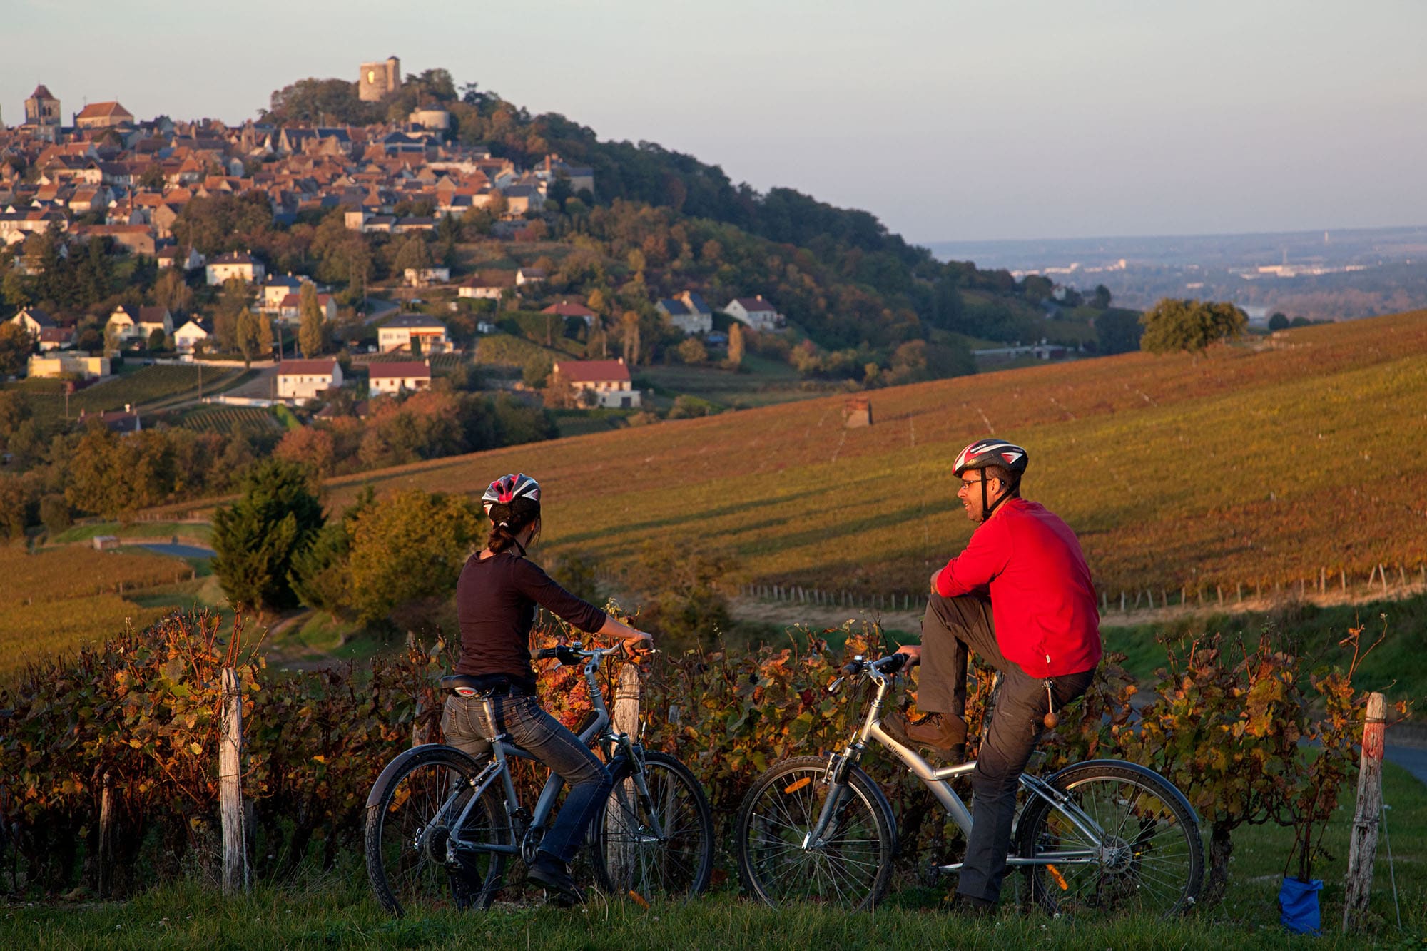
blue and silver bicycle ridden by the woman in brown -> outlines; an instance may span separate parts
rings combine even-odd
[[[714,867],[708,798],[682,763],[609,728],[595,674],[599,661],[619,650],[569,644],[538,653],[584,664],[594,720],[578,735],[602,747],[615,781],[591,825],[589,871],[609,894],[688,898],[704,891]],[[441,687],[482,697],[485,721],[495,723],[491,695],[471,678],[444,677]],[[507,861],[532,861],[562,783],[552,773],[534,811],[527,811],[511,775],[515,757],[535,760],[502,734],[484,763],[455,747],[425,744],[387,764],[367,797],[365,837],[367,872],[387,911],[485,908],[501,890]]]

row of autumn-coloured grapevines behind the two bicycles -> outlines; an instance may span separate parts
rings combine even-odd
[[[802,635],[781,651],[642,661],[644,743],[695,771],[721,835],[766,767],[839,748],[859,723],[863,697],[823,687],[849,654],[880,653],[880,633],[839,634],[846,634],[841,650]],[[558,637],[548,628],[537,641]],[[377,657],[370,670],[274,673],[241,637],[220,637],[215,618],[176,614],[31,668],[19,687],[0,693],[0,814],[19,857],[9,862],[14,871],[0,872],[0,888],[54,894],[97,882],[106,775],[117,802],[118,891],[140,884],[123,877],[137,867],[160,877],[213,874],[218,671],[225,664],[244,684],[244,791],[253,801],[257,874],[350,861],[360,854],[365,797],[382,765],[414,741],[440,740],[435,678],[454,660],[438,641]],[[575,727],[591,710],[579,671],[555,661],[542,667],[545,704]],[[618,668],[619,661],[604,671],[606,698]],[[1079,708],[1065,713],[1047,767],[1087,757],[1144,763],[1186,791],[1216,841],[1241,822],[1311,832],[1354,771],[1361,708],[1349,677],[1329,670],[1303,677],[1297,658],[1271,638],[1256,648],[1206,640],[1172,650],[1136,715],[1133,687],[1109,665]],[[989,671],[977,678],[972,754],[992,685]],[[1321,751],[1309,754],[1300,738],[1320,740]],[[955,830],[928,808],[920,784],[883,755],[870,753],[863,765],[896,811],[903,871],[955,857]],[[518,773],[527,795],[542,778],[528,764]],[[1227,872],[1227,851],[1222,860]]]

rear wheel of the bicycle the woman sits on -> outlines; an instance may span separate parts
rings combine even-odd
[[[442,805],[461,784],[469,784],[479,767],[459,750],[432,745],[411,757],[380,790],[367,808],[367,875],[381,907],[397,917],[408,911],[441,908],[487,908],[501,887],[505,855],[492,851],[467,852],[461,865],[445,862],[448,822],[459,818],[469,794],[445,810]],[[507,845],[509,820],[501,791],[488,785],[461,838]]]

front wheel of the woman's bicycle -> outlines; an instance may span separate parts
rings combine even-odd
[[[714,815],[688,767],[664,753],[644,754],[649,802],[635,785],[634,764],[614,764],[614,788],[591,827],[599,888],[612,895],[682,901],[708,888],[714,872]],[[649,810],[662,837],[652,834]]]

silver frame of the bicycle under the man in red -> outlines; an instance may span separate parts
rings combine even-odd
[[[858,658],[860,661],[862,658]],[[833,753],[829,755],[828,764],[828,783],[832,787],[828,792],[828,798],[823,802],[822,812],[818,817],[816,824],[803,837],[802,847],[805,850],[821,848],[826,844],[825,834],[828,827],[832,824],[838,808],[842,804],[842,797],[846,792],[848,784],[845,781],[848,768],[856,767],[862,760],[862,754],[866,753],[869,741],[880,743],[883,747],[892,751],[898,760],[902,761],[908,770],[922,781],[922,785],[942,804],[946,814],[950,815],[952,821],[956,822],[962,834],[970,835],[972,831],[972,814],[966,808],[966,802],[962,797],[956,794],[952,788],[950,780],[966,775],[976,768],[976,761],[960,763],[956,765],[933,768],[922,755],[912,750],[910,747],[898,743],[886,730],[882,728],[882,711],[886,705],[886,695],[892,687],[892,678],[895,674],[882,673],[876,664],[866,664],[863,671],[869,680],[876,684],[876,694],[872,697],[872,703],[868,705],[868,714],[862,721],[862,727],[853,734],[852,740],[843,747],[842,753]],[[1020,774],[1020,788],[1027,792],[1027,795],[1036,795],[1047,802],[1052,808],[1062,812],[1070,822],[1075,824],[1082,834],[1085,834],[1090,841],[1099,842],[1104,838],[1104,830],[1090,818],[1080,807],[1077,807],[1067,795],[1053,788],[1047,783]],[[1016,815],[1019,818],[1020,811]],[[888,817],[892,818],[892,817]],[[1015,841],[1015,838],[1012,840]],[[1036,855],[1033,858],[1022,858],[1019,855],[1010,855],[1006,860],[1007,865],[1047,865],[1047,864],[1095,864],[1100,861],[1100,850],[1077,850],[1065,852],[1047,852]],[[949,865],[938,865],[939,872],[959,872],[962,870],[962,862],[953,862]]]

